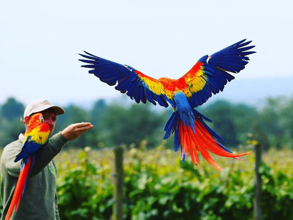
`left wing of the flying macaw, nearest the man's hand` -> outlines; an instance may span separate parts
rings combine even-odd
[[[156,105],[168,107],[166,102],[165,91],[162,83],[144,75],[133,67],[127,65],[121,65],[119,63],[112,62],[92,55],[84,51],[87,55],[79,54],[89,60],[80,60],[84,63],[90,63],[89,65],[82,65],[82,67],[92,68],[89,73],[94,74],[102,82],[107,83],[110,86],[115,86],[115,89],[121,93],[126,93],[131,99],[134,99],[137,103],[147,101]]]

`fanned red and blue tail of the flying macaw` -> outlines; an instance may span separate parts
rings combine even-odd
[[[171,132],[175,132],[174,150],[177,151],[179,146],[181,146],[181,162],[185,161],[187,152],[189,151],[193,164],[199,165],[197,157],[197,151],[199,151],[207,162],[214,168],[222,171],[223,169],[211,157],[208,150],[222,157],[233,157],[236,159],[251,153],[251,151],[241,154],[232,153],[215,139],[218,138],[224,141],[223,138],[205,124],[203,118],[209,122],[212,121],[195,109],[192,110],[192,113],[192,119],[186,121],[181,119],[182,117],[180,117],[178,112],[173,112],[165,127],[166,135],[164,139],[168,138]]]

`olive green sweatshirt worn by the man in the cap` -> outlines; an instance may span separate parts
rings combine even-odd
[[[14,162],[21,152],[23,135],[17,141],[8,144],[2,153],[0,162],[1,200],[5,219],[21,167],[21,160]],[[62,150],[67,140],[61,132],[55,134],[46,145],[36,152],[35,164],[25,187],[18,210],[11,220],[59,220],[56,193],[56,165],[53,158]]]

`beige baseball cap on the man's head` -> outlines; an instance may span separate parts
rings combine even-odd
[[[26,106],[23,114],[23,118],[26,116],[30,116],[33,113],[41,112],[43,110],[46,110],[48,108],[53,108],[56,112],[56,115],[62,115],[65,113],[65,110],[58,106],[53,105],[51,102],[44,98],[36,99],[32,101],[28,106]]]

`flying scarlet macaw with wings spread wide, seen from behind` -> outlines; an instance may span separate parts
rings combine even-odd
[[[89,73],[93,73],[102,82],[121,93],[126,93],[137,103],[147,101],[156,105],[168,107],[168,103],[173,107],[173,114],[168,119],[164,139],[175,132],[174,150],[181,146],[181,161],[184,162],[187,151],[194,164],[198,164],[197,150],[216,169],[222,168],[209,155],[208,151],[224,156],[238,157],[248,153],[233,154],[225,148],[215,138],[224,141],[212,129],[210,129],[203,119],[212,122],[194,108],[205,103],[212,93],[223,91],[224,85],[234,79],[228,72],[238,73],[243,70],[248,63],[247,55],[255,53],[248,51],[254,46],[247,46],[251,41],[246,39],[232,44],[210,56],[205,55],[181,78],[169,79],[166,77],[154,79],[128,65],[121,65],[110,60],[105,60],[90,53],[89,56],[79,54],[90,60],[80,60],[90,65],[81,67],[92,68]],[[226,72],[228,71],[228,72]],[[117,83],[118,82],[118,83]]]

